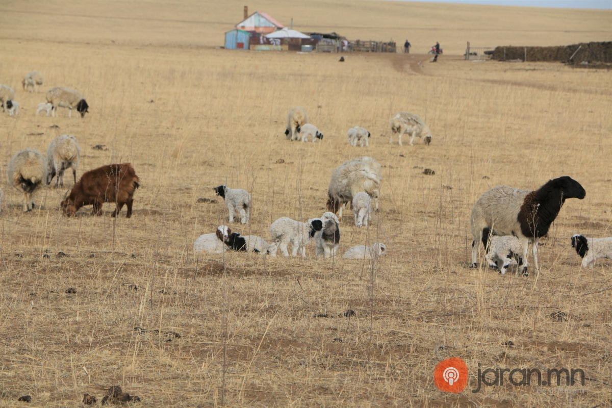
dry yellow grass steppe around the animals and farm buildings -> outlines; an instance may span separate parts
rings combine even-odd
[[[610,407],[612,261],[581,268],[570,237],[612,236],[612,72],[461,53],[468,40],[610,41],[612,12],[248,4],[286,25],[293,17],[302,31],[414,45],[409,55],[346,54],[340,63],[338,54],[221,49],[243,6],[0,4],[0,83],[21,104],[17,117],[0,114],[0,406],[83,406],[84,393],[99,405],[121,385],[142,399],[128,404],[143,407]],[[436,40],[445,53],[433,64],[425,53]],[[42,92],[21,87],[32,70],[45,75]],[[89,113],[35,116],[53,86],[78,89]],[[307,109],[322,141],[286,140],[294,106]],[[423,117],[430,146],[389,144],[399,111]],[[349,146],[356,125],[370,130],[370,147]],[[111,218],[113,204],[103,217],[91,206],[64,217],[70,171],[64,188],[43,187],[23,212],[6,163],[24,147],[45,154],[62,134],[80,143],[78,177],[133,164],[141,183],[132,218],[125,209]],[[383,165],[380,210],[362,229],[346,210],[339,253],[383,242],[386,257],[318,260],[312,243],[305,259],[193,253],[198,236],[228,223],[212,187],[248,190],[252,220],[231,228],[269,240],[279,217],[321,217],[332,170],[363,155]],[[586,198],[565,202],[541,241],[540,272],[501,276],[482,267],[482,247],[481,266],[469,269],[476,199],[560,176],[578,180]],[[469,368],[460,394],[433,384],[436,364],[453,356]],[[586,382],[515,387],[506,374],[472,393],[479,364],[581,368]],[[17,402],[23,395],[32,402]]]

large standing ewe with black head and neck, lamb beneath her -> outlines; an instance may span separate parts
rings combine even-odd
[[[537,243],[545,236],[568,198],[583,199],[586,191],[576,180],[563,176],[548,182],[535,191],[519,190],[502,185],[485,192],[472,208],[472,267],[476,267],[482,230],[493,229],[499,236],[513,235],[523,248],[523,273],[528,266],[528,244],[532,244],[535,269]]]

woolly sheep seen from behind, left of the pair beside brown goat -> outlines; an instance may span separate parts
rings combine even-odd
[[[19,150],[10,158],[7,168],[9,183],[23,193],[23,211],[34,209],[32,194],[47,177],[45,171],[45,158],[34,149]]]

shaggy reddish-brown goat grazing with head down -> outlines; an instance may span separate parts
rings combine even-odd
[[[119,177],[118,177],[119,176]],[[68,198],[64,197],[61,206],[68,217],[83,206],[93,204],[91,215],[102,215],[102,204],[116,202],[117,207],[111,214],[115,217],[127,204],[127,218],[132,216],[134,190],[140,179],[130,163],[106,165],[90,170],[72,187]]]

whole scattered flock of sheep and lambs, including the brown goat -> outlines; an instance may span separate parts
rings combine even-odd
[[[31,72],[22,81],[26,91],[37,92],[42,86],[43,75]],[[0,103],[3,111],[9,111],[10,116],[19,113],[19,104],[15,102],[15,92],[7,85],[0,84]],[[89,105],[80,92],[65,87],[54,87],[47,92],[47,103],[40,103],[37,113],[47,111],[56,116],[58,107],[76,109],[81,117],[88,112]],[[400,112],[391,121],[392,136],[397,135],[401,145],[401,137],[410,136],[410,145],[415,137],[422,138],[425,144],[431,143],[431,130],[416,114]],[[315,125],[308,123],[304,108],[293,108],[287,116],[285,135],[288,140],[305,142],[308,136],[314,143],[323,139]],[[347,138],[351,146],[368,147],[370,132],[362,127],[348,130]],[[7,175],[13,187],[23,193],[24,212],[34,209],[32,195],[43,183],[51,184],[56,177],[56,187],[64,183],[64,171],[72,168],[75,185],[64,196],[61,206],[67,216],[83,206],[92,204],[92,215],[102,215],[104,202],[116,202],[113,217],[124,204],[127,204],[127,217],[132,213],[133,193],[138,188],[138,176],[130,163],[106,165],[88,171],[76,181],[76,171],[80,158],[80,147],[72,135],[61,135],[54,138],[47,149],[47,157],[34,149],[23,149],[13,155],[9,161]],[[280,248],[283,256],[306,256],[306,247],[315,242],[317,258],[337,256],[340,243],[340,221],[342,209],[346,204],[351,206],[354,222],[357,228],[368,226],[373,210],[378,211],[380,193],[381,165],[374,158],[359,157],[345,161],[332,172],[327,190],[327,212],[320,218],[312,218],[306,222],[278,218],[269,228],[271,243],[258,236],[242,236],[232,232],[228,226],[222,225],[214,233],[204,234],[196,240],[193,250],[196,254],[220,254],[223,251],[247,251],[276,256]],[[250,220],[252,207],[251,195],[242,189],[228,188],[225,185],[215,187],[215,192],[225,200],[229,221],[234,222],[237,215],[241,224]],[[0,205],[4,194],[0,190]],[[470,218],[472,232],[472,267],[477,266],[480,242],[485,247],[485,261],[493,268],[506,273],[512,264],[522,265],[521,272],[527,275],[528,246],[532,245],[535,269],[539,270],[537,261],[537,246],[540,237],[546,236],[551,223],[557,217],[566,199],[583,199],[586,196],[584,188],[570,177],[563,176],[549,180],[538,190],[519,190],[517,188],[499,186],[486,191],[472,209]],[[338,216],[336,213],[338,213]],[[572,237],[572,247],[581,258],[583,267],[592,264],[597,258],[612,259],[612,238],[594,239],[581,235]],[[371,247],[360,245],[350,248],[343,258],[372,259],[387,254],[383,243],[375,243]]]

